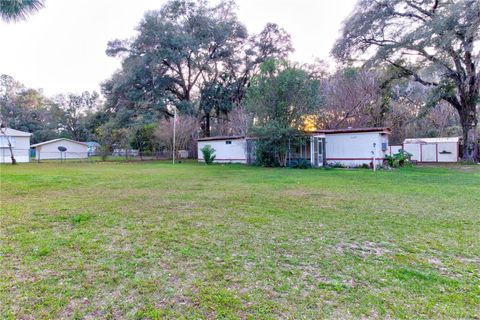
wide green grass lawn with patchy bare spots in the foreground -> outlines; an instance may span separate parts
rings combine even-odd
[[[480,315],[480,166],[0,170],[0,318]]]

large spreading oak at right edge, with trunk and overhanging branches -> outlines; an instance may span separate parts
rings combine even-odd
[[[478,159],[480,1],[359,0],[333,54],[386,64],[459,114],[463,159]]]

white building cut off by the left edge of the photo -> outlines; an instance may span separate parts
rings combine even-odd
[[[12,163],[10,149],[8,148],[9,139],[15,160],[17,162],[29,162],[30,136],[32,134],[12,128],[6,128],[4,131],[5,134],[0,133],[0,163]]]

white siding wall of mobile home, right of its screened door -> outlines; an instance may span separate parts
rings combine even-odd
[[[387,135],[378,132],[327,134],[325,137],[327,163],[340,162],[345,166],[370,164],[374,143],[376,163],[382,164],[388,152]],[[385,152],[382,151],[382,143],[387,143]]]

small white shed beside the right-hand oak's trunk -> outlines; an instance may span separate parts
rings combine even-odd
[[[403,141],[403,150],[418,162],[458,162],[460,138],[414,138]]]

